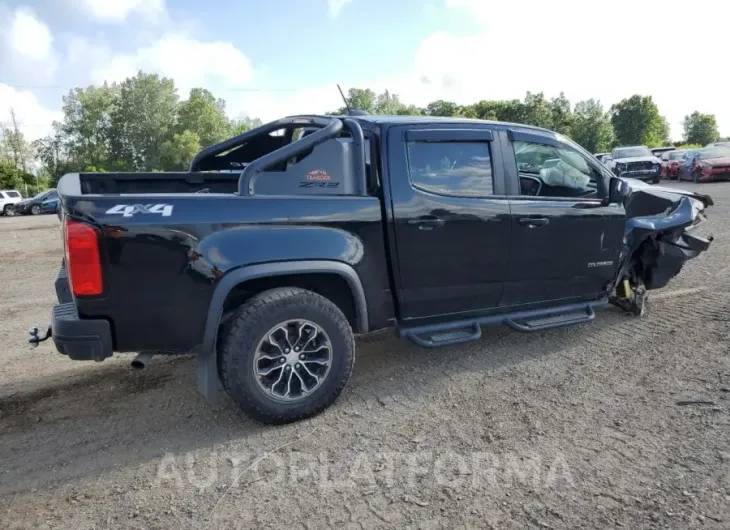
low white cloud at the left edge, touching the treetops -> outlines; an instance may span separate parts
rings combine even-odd
[[[53,121],[63,117],[60,111],[41,105],[32,92],[18,90],[3,83],[0,83],[0,101],[0,124],[3,127],[12,127],[10,109],[13,109],[19,129],[31,141],[50,133]]]

